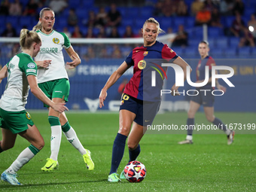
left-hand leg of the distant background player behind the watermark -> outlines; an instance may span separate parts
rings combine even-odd
[[[178,144],[192,144],[192,139],[193,139],[193,128],[194,128],[194,117],[200,108],[200,103],[190,101],[189,109],[187,111],[187,136],[186,140],[182,142],[178,142]]]

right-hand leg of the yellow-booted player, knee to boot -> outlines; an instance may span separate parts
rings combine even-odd
[[[84,163],[87,166],[87,169],[93,170],[94,169],[94,163],[93,160],[90,157],[90,151],[85,149],[84,146],[81,144],[80,140],[78,139],[77,134],[75,133],[75,130],[70,126],[69,120],[66,117],[66,114],[62,112],[59,116],[59,121],[62,127],[62,132],[68,139],[68,141],[73,145],[74,148],[76,148],[80,154],[84,158]]]

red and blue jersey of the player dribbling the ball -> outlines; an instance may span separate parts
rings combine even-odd
[[[160,101],[163,80],[167,78],[167,67],[162,67],[161,63],[171,63],[177,57],[172,49],[159,41],[151,47],[136,47],[125,59],[128,66],[133,66],[133,77],[123,93],[149,102]],[[155,87],[152,86],[152,72],[155,74]]]

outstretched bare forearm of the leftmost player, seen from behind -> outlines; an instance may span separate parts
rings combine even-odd
[[[27,79],[29,81],[29,86],[31,92],[39,99],[41,102],[44,102],[46,105],[49,105],[51,108],[53,108],[55,111],[58,111],[59,113],[62,113],[63,111],[67,110],[69,111],[69,108],[65,106],[66,103],[55,103],[52,102],[45,94],[42,92],[42,90],[38,87],[38,80],[35,77],[35,75],[28,75]]]

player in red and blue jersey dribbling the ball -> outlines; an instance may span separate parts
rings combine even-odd
[[[133,78],[130,79],[123,91],[119,112],[119,131],[114,139],[111,170],[108,181],[117,182],[123,178],[117,176],[117,168],[123,158],[123,151],[128,137],[130,160],[136,160],[140,153],[139,142],[145,133],[147,125],[151,125],[160,107],[160,90],[163,87],[163,78],[166,67],[161,67],[163,62],[173,62],[181,66],[186,77],[187,62],[181,59],[166,44],[157,41],[160,32],[160,24],[154,18],[145,21],[142,28],[144,45],[136,47],[126,57],[120,67],[110,76],[99,95],[99,107],[104,106],[107,90],[111,87],[127,69],[133,66]],[[159,71],[156,72],[156,71]],[[156,72],[155,86],[151,85],[151,74]],[[172,86],[172,93],[177,92],[178,87]],[[178,95],[178,93],[175,93]],[[133,124],[133,127],[131,128]],[[131,130],[131,131],[130,131]]]

